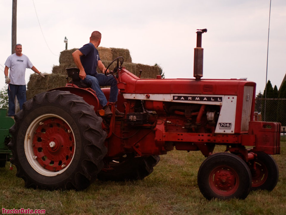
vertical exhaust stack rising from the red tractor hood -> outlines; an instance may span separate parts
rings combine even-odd
[[[202,34],[207,32],[207,29],[197,29],[197,47],[194,53],[194,77],[199,81],[203,77],[203,48]]]

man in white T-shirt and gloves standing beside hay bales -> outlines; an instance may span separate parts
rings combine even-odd
[[[22,54],[22,45],[16,44],[15,53],[10,55],[5,62],[5,83],[8,84],[8,116],[15,115],[15,96],[19,101],[20,110],[24,102],[26,102],[26,82],[25,72],[26,68],[32,69],[43,78],[45,77],[39,72],[36,67],[30,62],[29,58]],[[10,75],[8,76],[8,69],[10,68]]]

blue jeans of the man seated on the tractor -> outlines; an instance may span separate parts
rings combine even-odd
[[[117,102],[118,96],[118,87],[116,79],[111,76],[105,76],[103,73],[99,73],[96,76],[86,75],[86,78],[83,80],[88,85],[91,85],[91,89],[96,92],[98,101],[102,107],[107,104],[107,99],[102,92],[100,86],[111,86],[109,102]]]

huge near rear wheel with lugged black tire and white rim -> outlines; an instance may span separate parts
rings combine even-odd
[[[87,188],[107,153],[101,122],[93,106],[77,95],[55,90],[34,96],[10,129],[16,175],[28,188]]]

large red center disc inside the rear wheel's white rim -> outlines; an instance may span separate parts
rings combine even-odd
[[[69,165],[74,155],[74,136],[61,119],[49,118],[39,123],[33,137],[34,159],[50,171],[60,171]]]

